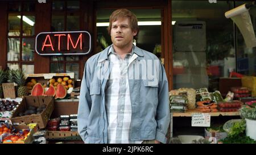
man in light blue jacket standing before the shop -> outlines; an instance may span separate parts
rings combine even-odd
[[[154,54],[133,45],[139,27],[126,9],[112,13],[112,45],[89,58],[82,78],[78,131],[85,143],[166,143],[168,81]]]

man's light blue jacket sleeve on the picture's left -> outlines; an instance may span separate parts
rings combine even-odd
[[[90,98],[89,88],[90,88],[90,68],[88,63],[86,62],[84,67],[84,76],[82,77],[82,82],[81,82],[79,109],[77,114],[78,132],[85,143],[88,137],[87,122],[90,114],[90,108],[92,106],[92,100]]]

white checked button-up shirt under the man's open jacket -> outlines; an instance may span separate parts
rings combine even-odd
[[[114,52],[113,45],[109,49],[109,60],[113,63],[110,77],[105,89],[105,107],[108,118],[108,143],[142,143],[130,140],[131,100],[127,70],[129,64],[135,60],[132,52],[122,60]]]

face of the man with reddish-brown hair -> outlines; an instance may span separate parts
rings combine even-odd
[[[110,36],[115,47],[125,48],[133,43],[133,37],[137,32],[131,30],[129,18],[118,18],[112,22]]]

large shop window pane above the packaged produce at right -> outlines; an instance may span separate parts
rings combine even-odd
[[[218,78],[236,68],[230,9],[233,2],[172,1],[174,89],[218,90]]]

